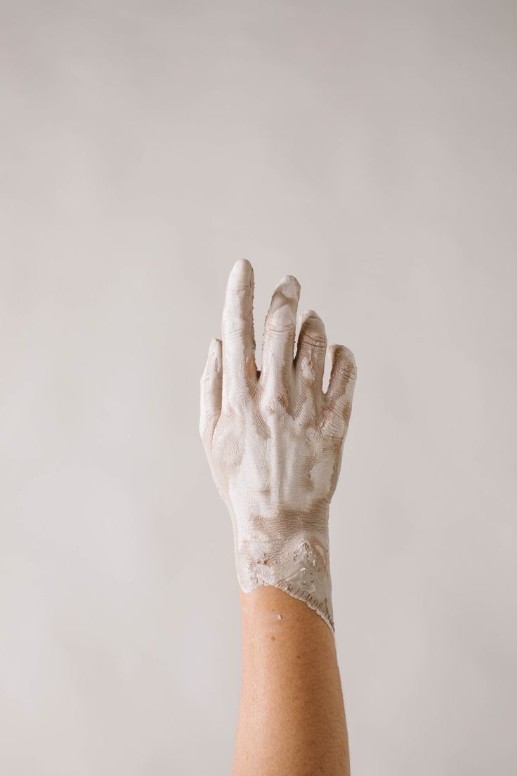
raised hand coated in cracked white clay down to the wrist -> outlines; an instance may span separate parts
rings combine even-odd
[[[257,372],[253,287],[250,262],[236,262],[226,287],[222,341],[211,341],[202,376],[200,433],[233,519],[243,591],[280,587],[333,628],[329,504],[356,366],[348,348],[331,345],[323,393],[326,332],[312,311],[302,315],[294,358],[300,285],[287,275],[274,290]]]

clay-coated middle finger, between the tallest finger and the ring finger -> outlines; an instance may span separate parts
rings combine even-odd
[[[283,393],[291,383],[295,355],[296,310],[300,284],[285,275],[274,289],[264,326],[260,382],[267,390]]]

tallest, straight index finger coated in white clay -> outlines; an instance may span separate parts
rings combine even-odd
[[[253,334],[253,267],[246,259],[233,265],[222,311],[224,400],[232,401],[243,383],[257,380]]]

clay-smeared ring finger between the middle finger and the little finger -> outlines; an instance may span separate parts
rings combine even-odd
[[[326,345],[325,324],[314,310],[307,310],[302,315],[295,359],[301,393],[322,393]]]

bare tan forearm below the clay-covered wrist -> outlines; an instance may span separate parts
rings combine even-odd
[[[243,676],[233,776],[350,774],[334,636],[275,587],[240,592]]]

